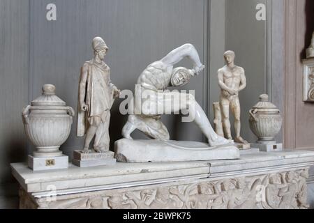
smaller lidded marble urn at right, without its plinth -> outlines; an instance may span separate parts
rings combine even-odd
[[[276,144],[274,137],[281,130],[283,117],[276,105],[269,102],[269,96],[260,95],[258,102],[250,110],[250,128],[258,137],[258,144]]]

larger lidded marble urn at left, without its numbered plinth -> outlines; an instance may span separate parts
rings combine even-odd
[[[57,97],[54,85],[43,86],[43,94],[22,112],[27,137],[36,146],[33,157],[62,155],[59,148],[68,139],[74,114],[73,108]]]

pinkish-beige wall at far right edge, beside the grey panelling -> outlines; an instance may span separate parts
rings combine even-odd
[[[314,30],[312,0],[285,1],[284,89],[285,148],[314,149],[314,104],[303,98],[303,66],[305,49]]]

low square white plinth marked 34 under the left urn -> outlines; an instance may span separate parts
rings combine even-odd
[[[61,155],[56,157],[33,157],[32,155],[29,155],[28,166],[33,171],[67,169],[68,156]]]

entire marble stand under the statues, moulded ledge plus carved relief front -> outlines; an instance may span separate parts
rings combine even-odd
[[[239,160],[69,164],[48,172],[31,171],[24,163],[11,168],[21,188],[20,208],[283,209],[308,208],[306,180],[313,164],[314,152],[285,150]],[[287,176],[289,182],[281,181]]]

